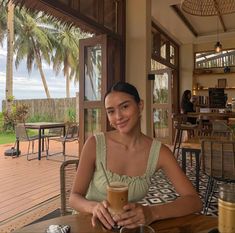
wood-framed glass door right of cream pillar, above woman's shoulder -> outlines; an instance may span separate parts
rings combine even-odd
[[[172,144],[172,72],[165,68],[152,71],[152,126],[153,136],[159,141]]]

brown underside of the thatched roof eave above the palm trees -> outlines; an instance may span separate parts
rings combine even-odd
[[[76,0],[75,0],[76,1]],[[13,3],[22,7],[26,7],[33,11],[43,11],[46,14],[57,18],[58,20],[79,27],[84,32],[94,33],[91,25],[86,22],[86,19],[75,9],[67,7],[59,1],[53,0],[12,0]]]

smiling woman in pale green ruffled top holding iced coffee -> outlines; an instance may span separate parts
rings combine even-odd
[[[119,226],[134,228],[139,224],[199,212],[201,201],[191,182],[180,169],[172,152],[157,140],[141,132],[140,121],[144,103],[134,86],[119,82],[105,96],[105,108],[110,125],[115,129],[87,139],[79,161],[70,196],[70,205],[79,212],[92,214],[111,229]],[[129,203],[123,214],[111,217],[106,199],[108,178],[128,184]],[[148,192],[150,179],[162,169],[180,195],[175,201],[162,205],[138,204]]]

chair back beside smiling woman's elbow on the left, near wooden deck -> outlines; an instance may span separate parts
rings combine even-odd
[[[61,197],[61,215],[69,215],[72,208],[69,207],[68,201],[72,189],[73,180],[76,175],[78,160],[64,161],[60,166],[60,197]]]

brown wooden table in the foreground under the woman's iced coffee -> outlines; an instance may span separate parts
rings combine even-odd
[[[111,233],[102,228],[101,224],[96,227],[91,225],[91,215],[80,213],[79,215],[69,215],[42,221],[30,226],[26,226],[14,233],[45,233],[51,224],[68,224],[71,226],[70,233]],[[217,228],[217,217],[204,215],[187,215],[180,218],[156,221],[151,224],[156,233],[207,233],[213,228]]]

